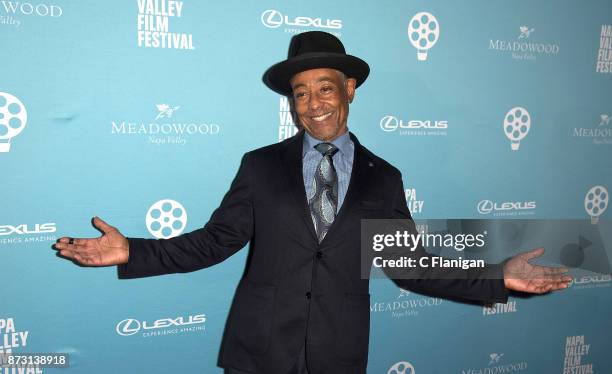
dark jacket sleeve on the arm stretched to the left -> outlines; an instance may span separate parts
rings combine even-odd
[[[243,248],[253,236],[253,202],[249,154],[221,205],[200,229],[170,239],[128,238],[129,259],[118,277],[141,278],[186,273],[215,265]]]

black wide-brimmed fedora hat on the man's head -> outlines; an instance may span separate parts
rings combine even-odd
[[[326,32],[309,31],[291,38],[287,59],[266,70],[263,81],[271,90],[291,96],[291,77],[318,68],[340,70],[347,77],[355,78],[357,87],[370,73],[370,67],[365,61],[346,54],[340,39]]]

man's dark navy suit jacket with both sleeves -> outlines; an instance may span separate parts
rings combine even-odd
[[[411,218],[401,174],[351,134],[355,157],[346,198],[319,244],[304,190],[302,139],[300,132],[245,154],[203,228],[167,240],[130,238],[129,262],[119,266],[119,277],[195,271],[250,242],[219,365],[284,374],[306,341],[311,374],[365,373],[370,295],[360,272],[360,220]],[[484,279],[501,277],[499,265],[452,271],[456,276],[449,279],[394,281],[435,296],[507,300],[502,280]]]

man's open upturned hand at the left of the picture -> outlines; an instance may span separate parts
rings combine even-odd
[[[128,262],[129,244],[119,230],[99,217],[94,217],[94,226],[102,232],[99,238],[60,238],[55,243],[59,254],[87,266],[120,265]],[[72,244],[70,241],[72,240]]]

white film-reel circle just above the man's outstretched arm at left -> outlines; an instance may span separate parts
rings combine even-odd
[[[175,237],[187,226],[187,211],[178,201],[160,200],[149,208],[146,225],[151,235],[157,239]]]

